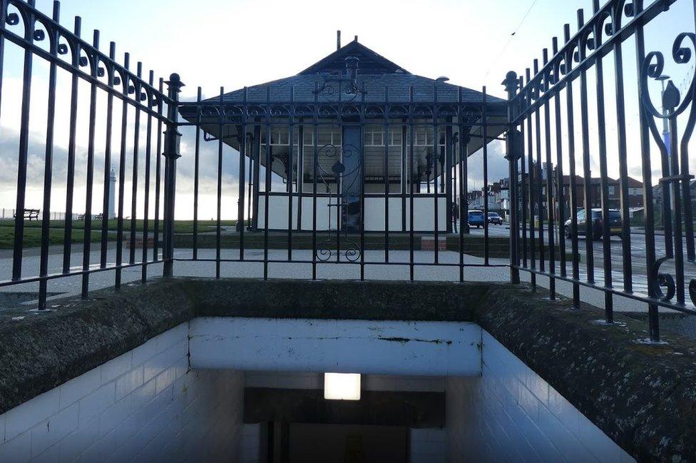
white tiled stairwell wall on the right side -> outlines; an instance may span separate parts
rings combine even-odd
[[[446,382],[450,461],[633,462],[633,458],[483,332],[481,377]]]

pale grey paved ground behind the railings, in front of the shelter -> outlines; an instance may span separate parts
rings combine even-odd
[[[140,258],[140,250],[136,253]],[[175,258],[190,259],[193,257],[193,250],[177,249],[175,250]],[[199,250],[198,257],[200,259],[215,259],[215,250],[203,249]],[[236,260],[239,258],[239,250],[223,249],[221,250],[222,259]],[[245,250],[245,259],[262,260],[263,250]],[[270,260],[286,260],[287,250],[269,250]],[[311,250],[293,250],[292,258],[295,260],[311,260]],[[392,263],[404,263],[404,265],[379,265],[369,264],[365,268],[365,278],[370,280],[408,280],[409,279],[409,251],[407,250],[391,250],[389,258]],[[431,251],[415,251],[414,258],[416,263],[429,264],[434,262],[434,253]],[[384,251],[367,250],[365,259],[374,262],[382,262],[384,260]],[[99,252],[91,253],[92,268],[98,268]],[[113,265],[116,261],[116,250],[111,248],[108,252],[108,263]],[[343,262],[346,259],[342,258]],[[71,263],[73,270],[80,270],[82,262],[81,253],[73,253]],[[128,250],[123,250],[123,262],[128,262]],[[441,251],[439,253],[440,263],[457,264],[459,263],[459,254],[454,251]],[[507,259],[491,259],[493,265],[506,265]],[[482,265],[483,259],[465,255],[464,263],[467,265]],[[62,269],[62,255],[51,254],[48,258],[49,273],[59,273]],[[220,265],[221,275],[225,277],[248,277],[260,278],[263,275],[263,264],[259,262],[223,262]],[[24,275],[36,275],[39,270],[39,255],[34,253],[26,253],[24,258],[23,272]],[[142,275],[140,266],[126,268],[122,272],[123,283],[131,283],[139,281]],[[108,288],[113,286],[114,270],[92,273],[90,275],[90,288]],[[159,276],[162,274],[162,264],[148,265],[148,275]],[[193,277],[215,277],[214,262],[175,262],[175,275],[178,276],[193,276]],[[270,278],[311,278],[312,266],[305,263],[270,263],[269,276]],[[335,263],[319,263],[317,265],[317,277],[320,279],[357,279],[359,278],[359,265]],[[506,267],[465,267],[464,278],[468,281],[508,281],[510,270]],[[9,280],[11,278],[11,258],[0,258],[0,280]],[[528,280],[528,274],[523,273],[523,280]],[[415,269],[416,280],[459,280],[459,266],[436,266],[436,265],[416,265]],[[82,278],[80,275],[58,278],[48,281],[48,292],[56,294],[55,297],[64,295],[76,295],[81,291]],[[539,279],[540,285],[545,285],[545,279]],[[565,288],[567,286],[568,288]],[[27,292],[36,293],[39,290],[39,283],[24,283],[21,285],[13,285],[0,288],[0,292]],[[570,285],[563,283],[558,284],[558,291],[561,294],[570,295]],[[617,298],[619,299],[619,298]],[[623,299],[623,298],[622,298]],[[595,305],[602,305],[603,297],[597,290],[583,288],[583,300],[586,300]],[[1,299],[0,299],[1,301]],[[617,304],[617,310],[643,310],[637,307],[635,302],[625,300],[625,304]],[[630,302],[630,303],[628,303]]]

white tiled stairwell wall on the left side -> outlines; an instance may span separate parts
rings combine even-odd
[[[237,457],[240,372],[189,370],[188,323],[0,415],[0,462]]]

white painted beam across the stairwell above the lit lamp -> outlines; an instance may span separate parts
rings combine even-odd
[[[190,323],[190,362],[233,370],[478,375],[480,339],[474,323],[199,317]]]

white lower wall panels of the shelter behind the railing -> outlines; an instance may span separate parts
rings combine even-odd
[[[332,203],[336,198],[332,198]],[[266,196],[259,194],[258,227],[265,227]],[[268,203],[268,223],[271,230],[287,230],[287,195],[272,195]],[[297,228],[297,196],[292,198],[292,227]],[[317,230],[337,228],[336,208],[328,207],[329,198],[317,198]],[[435,230],[434,198],[414,197],[414,230]],[[312,230],[312,198],[302,197],[302,230]],[[447,228],[447,199],[438,198],[438,230]],[[411,204],[406,198],[406,230],[410,230]],[[330,227],[330,228],[329,228]],[[365,230],[384,231],[384,198],[365,198]],[[401,231],[401,198],[389,198],[389,230]]]

